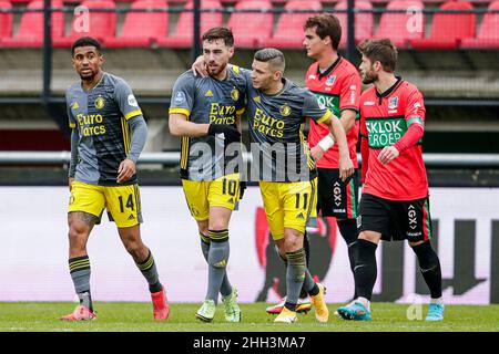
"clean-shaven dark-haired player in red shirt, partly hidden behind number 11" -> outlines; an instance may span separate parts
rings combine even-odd
[[[310,119],[308,144],[317,162],[317,210],[323,217],[335,217],[339,231],[348,247],[352,273],[355,267],[357,243],[357,199],[358,199],[358,162],[357,139],[359,127],[360,75],[357,69],[338,54],[342,39],[342,25],[332,13],[320,13],[308,18],[304,25],[303,42],[307,55],[315,60],[305,76],[307,88],[319,103],[326,105],[339,117],[347,134],[348,149],[356,171],[346,181],[339,178],[339,150],[334,145],[329,129],[324,124]],[[353,299],[356,295],[353,294]],[[269,313],[278,313],[281,303],[267,308]]]

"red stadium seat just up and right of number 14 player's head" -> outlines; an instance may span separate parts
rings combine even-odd
[[[133,9],[167,9],[165,0],[139,0]],[[151,46],[169,30],[167,12],[129,12],[119,37],[104,38],[106,46]]]

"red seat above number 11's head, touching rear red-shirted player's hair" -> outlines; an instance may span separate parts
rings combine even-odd
[[[285,10],[322,10],[323,4],[318,0],[292,0],[284,6]],[[308,17],[317,12],[308,13],[282,13],[272,38],[258,41],[259,46],[299,49],[305,39],[303,25]]]

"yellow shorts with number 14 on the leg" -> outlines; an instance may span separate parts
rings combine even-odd
[[[104,208],[119,228],[142,222],[139,185],[98,186],[73,181],[68,212],[84,211],[100,219]]]

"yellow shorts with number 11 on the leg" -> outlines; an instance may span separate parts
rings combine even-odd
[[[284,238],[284,229],[305,233],[308,217],[317,205],[317,179],[312,181],[259,181],[259,190],[274,240]]]

